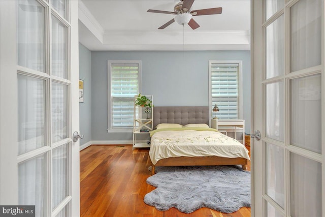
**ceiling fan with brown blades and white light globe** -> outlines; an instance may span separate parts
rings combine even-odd
[[[181,2],[177,3],[174,7],[174,12],[170,11],[159,11],[149,9],[147,12],[152,13],[161,13],[161,14],[175,14],[176,17],[168,21],[164,25],[160,26],[158,29],[164,29],[173,22],[177,22],[180,25],[188,24],[192,29],[199,28],[200,25],[192,18],[192,16],[201,16],[201,15],[211,15],[211,14],[221,14],[222,8],[208,8],[201,10],[191,11],[194,0],[180,0]]]

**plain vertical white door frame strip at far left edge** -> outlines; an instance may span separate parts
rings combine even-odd
[[[0,204],[18,203],[16,4],[0,1]],[[14,16],[13,16],[14,15]],[[11,17],[12,19],[8,19]],[[5,29],[12,29],[7,31]],[[8,156],[10,158],[8,158]]]

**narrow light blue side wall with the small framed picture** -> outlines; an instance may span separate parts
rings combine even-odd
[[[83,145],[92,140],[91,136],[91,51],[79,43],[79,79],[84,81],[84,102],[79,103],[80,140]]]

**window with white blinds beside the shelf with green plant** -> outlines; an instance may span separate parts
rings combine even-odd
[[[108,61],[108,132],[133,128],[134,97],[140,92],[140,78],[141,61]]]

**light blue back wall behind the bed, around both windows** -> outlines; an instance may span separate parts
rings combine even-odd
[[[209,60],[242,60],[243,115],[250,131],[250,51],[92,51],[92,138],[132,140],[107,133],[107,60],[141,60],[143,95],[155,106],[209,106]]]

